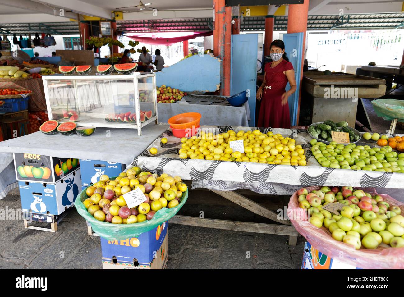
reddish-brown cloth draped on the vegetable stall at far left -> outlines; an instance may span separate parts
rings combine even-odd
[[[32,112],[46,111],[46,101],[44,93],[44,84],[42,78],[21,79],[8,82],[1,82],[0,88],[15,88],[31,90],[29,95],[28,110]]]

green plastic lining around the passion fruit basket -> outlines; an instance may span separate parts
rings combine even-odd
[[[90,215],[90,213],[87,211],[86,207],[83,204],[83,201],[88,198],[86,189],[82,190],[82,192],[77,196],[74,205],[76,206],[79,215],[84,217],[84,219],[86,219],[91,224],[94,232],[107,240],[125,240],[126,238],[137,237],[144,232],[154,229],[158,225],[161,225],[163,222],[174,217],[174,215],[181,209],[188,198],[187,189],[183,193],[180,203],[177,206],[170,209],[160,209],[156,212],[153,219],[151,219],[150,221],[146,220],[141,223],[133,224],[112,224],[95,219],[95,217]]]

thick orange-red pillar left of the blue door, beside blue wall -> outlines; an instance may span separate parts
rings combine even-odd
[[[213,53],[221,59],[220,95],[230,96],[231,7],[225,6],[225,0],[213,0],[213,5],[215,6]]]

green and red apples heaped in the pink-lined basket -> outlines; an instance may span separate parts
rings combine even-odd
[[[390,205],[380,195],[372,195],[352,187],[322,187],[310,193],[297,191],[299,207],[308,209],[309,222],[323,225],[332,238],[350,244],[376,249],[382,242],[391,247],[404,247],[404,217],[397,205]],[[323,209],[329,203],[344,204],[339,214]]]

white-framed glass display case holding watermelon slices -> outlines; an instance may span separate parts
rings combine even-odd
[[[156,74],[42,76],[50,120],[136,128],[157,118]]]

